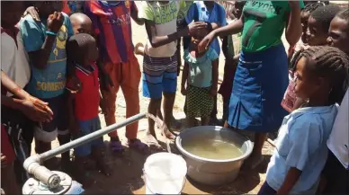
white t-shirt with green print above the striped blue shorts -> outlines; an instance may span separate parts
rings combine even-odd
[[[142,2],[142,7],[139,9],[139,18],[144,18],[148,21],[155,22],[157,36],[166,36],[177,31],[177,16],[180,9],[185,7],[185,2],[169,1],[167,4],[159,2]],[[145,53],[149,57],[166,58],[175,55],[176,42],[170,42],[158,48],[153,48],[147,40],[144,47]]]

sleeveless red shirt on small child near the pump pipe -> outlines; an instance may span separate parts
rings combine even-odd
[[[81,82],[81,90],[76,93],[75,116],[77,120],[92,120],[98,117],[100,103],[98,68],[92,71],[76,65],[76,77]]]

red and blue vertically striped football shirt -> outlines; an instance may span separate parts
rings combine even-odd
[[[98,34],[104,62],[126,63],[133,53],[130,13],[137,10],[133,1],[86,1],[84,13]]]

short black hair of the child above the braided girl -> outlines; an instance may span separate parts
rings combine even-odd
[[[332,19],[336,16],[341,8],[336,4],[328,4],[326,6],[318,7],[310,16],[322,25],[323,31],[328,31]]]

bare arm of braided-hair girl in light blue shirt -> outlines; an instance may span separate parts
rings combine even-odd
[[[295,167],[291,167],[286,174],[286,178],[282,183],[280,189],[276,192],[278,195],[289,194],[293,186],[296,184],[300,178],[301,171]]]

